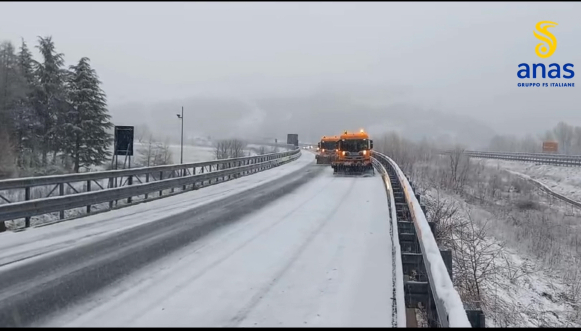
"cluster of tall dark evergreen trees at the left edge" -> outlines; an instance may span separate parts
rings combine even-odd
[[[66,67],[52,37],[38,37],[35,60],[0,44],[0,177],[80,172],[110,156],[110,115],[88,58]]]

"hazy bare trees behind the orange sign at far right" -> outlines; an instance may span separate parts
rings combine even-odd
[[[553,129],[539,136],[528,134],[525,137],[494,136],[489,150],[498,152],[540,153],[543,141],[556,141],[560,154],[581,154],[581,127],[559,122]]]

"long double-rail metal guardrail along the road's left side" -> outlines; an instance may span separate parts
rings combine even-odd
[[[164,190],[171,190],[171,193],[180,187],[181,191],[195,190],[207,184],[270,169],[293,161],[300,154],[300,148],[293,147],[289,151],[234,159],[0,180],[0,200],[4,202],[0,204],[0,222],[24,218],[28,227],[32,216],[59,212],[59,218],[64,219],[64,211],[69,209],[86,207],[87,213],[90,213],[91,205],[109,202],[112,208],[114,202],[121,199],[127,199],[127,203],[131,204],[131,199],[138,195],[145,195],[144,199],[147,200],[148,195],[157,192],[161,197]],[[133,184],[133,179],[139,183]],[[81,183],[82,187],[73,185],[75,183]],[[92,191],[92,183],[101,190]],[[47,195],[33,198],[33,188],[47,186],[52,186]],[[66,187],[69,192],[64,189]],[[51,197],[57,188],[59,196]],[[10,200],[10,197],[16,199]]]

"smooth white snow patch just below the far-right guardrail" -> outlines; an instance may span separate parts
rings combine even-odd
[[[494,159],[478,160],[491,168],[508,169],[522,173],[545,184],[556,193],[581,202],[581,168],[540,165],[529,162]]]

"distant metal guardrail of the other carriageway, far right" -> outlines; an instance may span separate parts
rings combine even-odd
[[[458,151],[438,151],[442,155],[454,154]],[[519,153],[519,152],[486,152],[460,151],[471,158],[500,159],[506,161],[535,162],[550,165],[581,166],[581,155],[549,154],[549,153]]]

